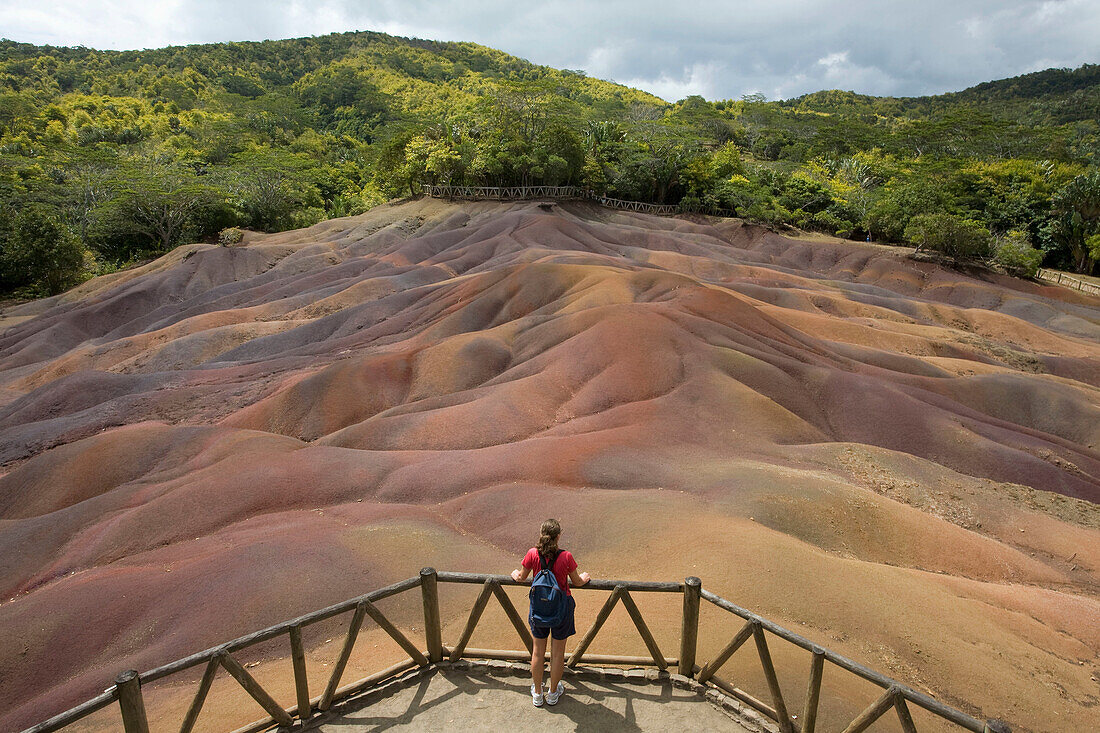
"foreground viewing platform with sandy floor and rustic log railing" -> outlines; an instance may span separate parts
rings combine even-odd
[[[461,634],[453,645],[443,644],[444,624],[441,620],[440,588],[443,586],[480,587],[476,600]],[[1009,733],[1001,721],[982,721],[945,704],[928,694],[875,671],[853,659],[823,648],[810,639],[743,609],[726,599],[705,590],[698,578],[683,582],[653,582],[635,580],[592,580],[578,587],[579,593],[605,591],[607,595],[595,620],[573,645],[566,647],[565,694],[557,705],[535,708],[530,698],[530,661],[532,638],[526,619],[505,588],[526,586],[508,576],[490,576],[469,572],[437,572],[424,568],[419,576],[402,580],[386,588],[371,591],[341,603],[320,609],[304,616],[286,621],[240,638],[211,647],[189,657],[177,659],[155,669],[139,674],[122,672],[112,687],[102,693],[24,733],[53,733],[78,724],[84,719],[113,708],[121,718],[108,723],[108,730],[125,733],[148,733],[146,690],[155,692],[155,683],[166,678],[176,680],[175,689],[187,694],[186,710],[176,708],[176,714],[160,716],[162,725],[169,725],[180,733],[196,730],[199,714],[210,696],[216,678],[222,683],[226,677],[235,680],[267,716],[237,727],[233,733],[260,733],[267,730],[340,731],[342,733],[373,730],[562,730],[568,718],[578,730],[719,730],[751,733],[814,733],[821,730],[861,733],[886,715],[895,719],[903,733],[917,730],[913,713],[923,716],[922,730],[966,730],[974,733]],[[458,589],[457,589],[458,590]],[[471,589],[472,591],[472,589]],[[679,632],[676,656],[666,656],[635,600],[646,594],[668,598],[680,597],[678,606]],[[416,609],[422,606],[424,625],[399,628],[380,610],[378,603],[394,598]],[[518,636],[519,646],[513,648],[474,648],[470,642],[482,615],[493,601],[507,616],[508,624]],[[706,603],[704,604],[703,601]],[[627,656],[619,654],[590,654],[593,639],[604,627],[612,611],[622,605],[629,614],[632,626],[640,636],[648,654]],[[700,615],[703,606],[712,609],[723,619],[732,619],[739,628],[724,646],[722,636],[704,639],[700,644]],[[453,608],[453,605],[451,606]],[[350,614],[336,656],[317,665],[309,659],[304,643],[304,630],[314,631],[329,620]],[[408,614],[405,614],[408,617]],[[666,616],[668,619],[668,616]],[[405,653],[405,660],[342,685],[349,661],[360,641],[364,624],[370,620]],[[419,627],[419,632],[417,632]],[[453,628],[453,626],[452,626]],[[659,628],[658,636],[668,638],[672,630]],[[365,633],[365,632],[364,632]],[[422,635],[421,635],[422,634]],[[417,638],[414,642],[410,638]],[[507,644],[493,634],[493,641]],[[503,636],[510,636],[509,633]],[[513,637],[515,638],[515,637]],[[748,642],[751,639],[751,644]],[[289,642],[290,664],[286,672],[273,677],[270,670],[255,669],[260,660],[248,661],[251,647],[268,642]],[[421,646],[420,641],[424,642]],[[710,643],[716,642],[716,643]],[[790,686],[784,696],[777,666],[772,661],[771,645],[781,643],[781,654],[805,654],[805,681],[796,688]],[[708,659],[696,665],[700,646],[712,652]],[[769,700],[738,687],[745,682],[728,679],[724,666],[741,647],[740,659],[752,657],[766,680]],[[752,652],[756,654],[754,655]],[[243,660],[243,661],[242,661]],[[314,683],[318,672],[323,686],[320,694],[311,687],[308,661],[312,661]],[[862,708],[855,711],[833,704],[822,694],[822,678],[826,663],[831,679],[837,672],[861,678],[878,691],[868,696]],[[801,664],[799,665],[801,667]],[[202,669],[197,686],[185,679],[184,672]],[[280,667],[282,668],[282,667]],[[263,671],[263,674],[261,674]],[[744,671],[743,671],[744,674]],[[263,680],[261,682],[260,680]],[[804,691],[801,700],[791,699],[793,689]],[[191,692],[194,690],[194,692]],[[872,697],[873,696],[873,697]],[[276,699],[283,698],[283,699]],[[289,698],[289,699],[287,699]],[[294,700],[294,704],[288,704]],[[858,714],[854,714],[858,711]],[[825,720],[827,719],[827,720]],[[116,718],[116,721],[118,718]],[[182,720],[182,722],[180,722]],[[103,730],[103,720],[86,730]],[[925,727],[927,724],[927,727]],[[207,724],[208,725],[208,724]],[[232,726],[230,726],[232,727]],[[207,726],[204,730],[211,730]],[[226,729],[215,729],[226,730]]]

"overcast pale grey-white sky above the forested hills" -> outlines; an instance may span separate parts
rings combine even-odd
[[[1100,62],[1100,0],[0,0],[0,36],[150,48],[373,30],[474,41],[646,89],[954,91]]]

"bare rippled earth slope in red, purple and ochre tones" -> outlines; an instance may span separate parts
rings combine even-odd
[[[2,730],[424,565],[506,572],[548,515],[593,575],[698,575],[977,715],[1100,725],[1094,298],[420,200],[0,329]]]

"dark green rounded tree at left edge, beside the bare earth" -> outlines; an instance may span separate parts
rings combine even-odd
[[[0,249],[0,272],[9,287],[31,285],[56,295],[74,285],[84,269],[84,248],[56,209],[23,208]]]

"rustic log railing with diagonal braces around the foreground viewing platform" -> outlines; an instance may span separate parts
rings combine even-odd
[[[442,622],[439,605],[439,583],[475,583],[481,584],[481,592],[474,601],[473,608],[462,630],[458,642],[452,647],[443,645]],[[198,719],[202,704],[207,699],[215,676],[219,670],[227,671],[238,683],[267,712],[268,716],[257,720],[235,733],[256,733],[270,727],[290,726],[295,719],[300,721],[309,720],[315,712],[328,710],[334,702],[361,692],[380,682],[394,678],[409,669],[416,667],[429,667],[443,661],[446,657],[449,661],[459,659],[505,659],[515,661],[529,661],[531,658],[532,639],[530,631],[524,617],[516,609],[512,599],[504,591],[505,586],[518,586],[509,576],[488,576],[470,572],[437,572],[432,568],[420,570],[419,577],[409,578],[400,582],[381,588],[364,595],[349,599],[342,603],[330,605],[326,609],[308,613],[304,616],[290,621],[268,626],[262,631],[233,639],[227,644],[193,654],[189,657],[177,659],[164,666],[152,669],[147,672],[138,674],[128,670],[118,676],[114,685],[105,692],[96,696],[91,700],[84,702],[70,710],[67,710],[47,721],[26,729],[24,733],[51,733],[58,731],[66,725],[81,720],[91,713],[107,708],[113,702],[118,702],[122,715],[122,725],[125,733],[148,733],[148,723],[145,713],[145,704],[142,696],[142,686],[150,685],[164,679],[169,675],[185,671],[206,665],[202,677],[199,680],[198,689],[187,709],[180,724],[180,733],[190,733]],[[375,605],[377,601],[398,593],[420,589],[421,602],[424,605],[425,621],[425,645],[421,650],[416,644],[399,631]],[[924,693],[917,692],[873,669],[869,669],[857,661],[840,656],[834,652],[822,648],[813,642],[790,632],[757,614],[747,611],[729,601],[704,590],[698,578],[686,578],[684,582],[645,582],[631,580],[592,580],[582,588],[574,590],[603,590],[610,591],[610,595],[596,614],[592,626],[584,633],[573,653],[566,660],[569,668],[575,668],[582,660],[595,665],[605,666],[641,666],[657,667],[666,670],[675,667],[679,674],[684,677],[694,678],[702,685],[712,686],[722,692],[732,696],[749,707],[756,709],[763,715],[774,721],[782,733],[814,733],[817,724],[818,702],[821,699],[821,685],[825,663],[829,663],[851,672],[865,680],[868,680],[882,688],[882,694],[862,712],[859,713],[844,733],[860,733],[881,718],[891,708],[898,715],[898,720],[905,733],[914,733],[916,726],[909,710],[909,704],[917,705],[939,718],[949,721],[967,731],[974,733],[1010,733],[1008,725],[1000,721],[980,721],[955,708],[946,705]],[[638,609],[631,593],[680,593],[683,597],[683,612],[681,614],[680,628],[680,655],[678,657],[667,657],[657,644],[649,626]],[[508,620],[515,627],[519,638],[526,647],[521,649],[480,649],[470,648],[469,643],[474,630],[480,622],[490,598],[495,598],[504,609]],[[722,609],[735,616],[745,620],[745,625],[726,644],[725,647],[710,661],[702,667],[695,664],[695,653],[698,638],[698,620],[701,601],[705,600],[714,606]],[[588,654],[587,649],[596,634],[603,627],[612,610],[616,604],[622,603],[630,615],[630,620],[637,627],[638,633],[645,642],[649,656],[624,656],[608,654]],[[306,676],[305,648],[301,641],[301,630],[305,626],[331,619],[341,613],[351,612],[351,623],[344,635],[340,654],[332,665],[324,690],[317,697],[310,697],[309,681]],[[363,622],[370,616],[377,626],[388,634],[405,650],[408,658],[399,664],[383,669],[378,672],[364,677],[355,682],[340,686],[348,661],[359,637]],[[290,642],[290,657],[294,668],[295,698],[296,704],[284,708],[276,701],[240,664],[233,653],[254,646],[279,636],[286,635]],[[783,698],[776,675],[776,667],[771,659],[768,646],[769,635],[783,639],[796,647],[810,652],[810,679],[806,687],[805,701],[802,708],[802,715],[799,722],[789,712],[787,701]],[[730,656],[749,638],[752,638],[760,666],[771,697],[771,704],[754,698],[744,690],[735,687],[732,682],[725,681],[716,676],[722,666]]]

